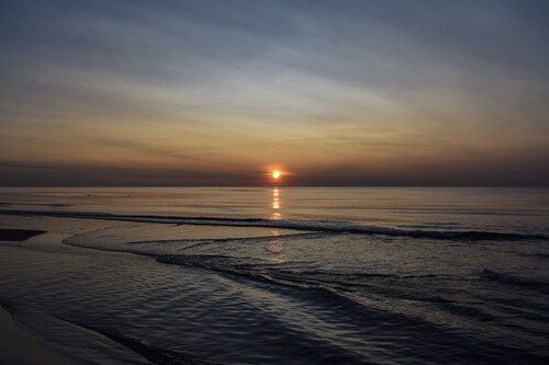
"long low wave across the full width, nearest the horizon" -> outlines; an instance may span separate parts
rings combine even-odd
[[[325,233],[354,233],[366,236],[407,237],[415,239],[469,240],[469,241],[520,241],[549,240],[542,235],[516,232],[497,232],[482,230],[406,230],[380,226],[361,226],[338,220],[271,220],[262,218],[233,217],[192,217],[192,216],[158,216],[158,215],[124,215],[86,212],[52,212],[52,210],[11,210],[1,209],[0,214],[16,216],[48,216],[80,219],[124,220],[138,223],[164,223],[194,226],[227,226],[227,227],[262,227],[280,228]]]

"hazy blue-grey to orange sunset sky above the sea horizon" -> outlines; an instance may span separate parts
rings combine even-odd
[[[549,185],[548,13],[0,0],[0,185]]]

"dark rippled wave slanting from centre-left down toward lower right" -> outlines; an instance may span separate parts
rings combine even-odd
[[[390,299],[414,300],[438,306],[450,315],[469,318],[481,322],[494,321],[495,317],[471,306],[456,303],[448,298],[425,293],[408,290],[402,282],[418,276],[399,276],[374,273],[335,273],[324,271],[293,272],[271,267],[260,267],[251,263],[242,262],[227,255],[160,255],[156,259],[160,263],[177,264],[214,271],[219,274],[244,277],[255,282],[277,284],[284,287],[298,288],[300,293],[306,290],[311,295],[322,296],[322,303],[358,310],[371,310],[365,306],[363,296],[374,295]],[[373,280],[373,282],[372,282]],[[410,319],[410,318],[408,318]]]

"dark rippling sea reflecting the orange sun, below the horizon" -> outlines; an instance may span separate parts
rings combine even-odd
[[[1,299],[122,344],[222,364],[549,361],[549,190],[2,190],[0,203],[0,228],[49,232],[2,243]]]

